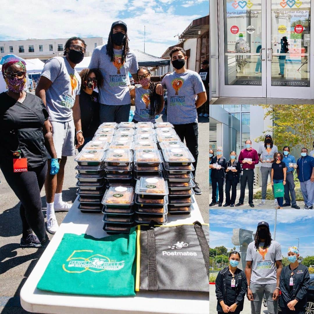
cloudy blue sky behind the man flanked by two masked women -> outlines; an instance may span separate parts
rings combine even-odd
[[[274,238],[274,209],[248,209],[248,210],[219,210],[209,211],[209,246],[225,246],[230,250],[234,247],[231,242],[232,230],[242,228],[256,232],[257,223],[267,221],[272,238]],[[288,246],[297,246],[300,238],[300,255],[306,257],[314,255],[314,210],[277,211],[276,241],[281,244],[284,256]]]

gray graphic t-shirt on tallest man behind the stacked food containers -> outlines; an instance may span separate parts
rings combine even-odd
[[[99,89],[100,104],[119,106],[131,103],[128,85],[131,74],[137,73],[138,63],[134,52],[129,51],[127,60],[121,63],[123,50],[113,49],[115,61],[107,55],[107,45],[97,46],[92,54],[89,68],[97,68],[104,77],[104,85]]]

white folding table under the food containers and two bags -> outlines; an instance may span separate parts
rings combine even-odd
[[[208,314],[209,295],[186,292],[137,292],[131,297],[105,297],[89,295],[59,294],[38,290],[37,283],[41,279],[48,263],[60,244],[64,233],[86,233],[96,238],[106,236],[102,229],[103,214],[81,213],[77,199],[73,203],[58,231],[43,252],[30,276],[20,292],[21,305],[26,311],[36,313],[178,313]],[[190,215],[168,214],[167,225],[189,224],[198,220],[204,223],[198,205]],[[178,270],[180,271],[180,270]]]

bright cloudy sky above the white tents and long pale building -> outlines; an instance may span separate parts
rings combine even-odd
[[[160,57],[178,42],[193,19],[209,13],[208,0],[2,0],[0,40],[28,38],[104,37],[107,42],[110,26],[123,20],[128,26],[131,49]]]

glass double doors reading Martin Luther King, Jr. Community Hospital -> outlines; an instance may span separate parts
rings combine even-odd
[[[220,96],[314,98],[311,2],[219,1]]]

